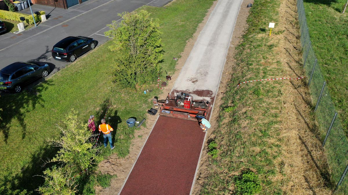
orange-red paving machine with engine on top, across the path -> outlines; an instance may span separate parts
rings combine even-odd
[[[167,96],[166,100],[160,100],[161,116],[180,118],[186,120],[197,120],[197,118],[206,118],[210,110],[210,103],[204,101],[193,101],[192,95],[188,93],[177,92],[175,99]]]

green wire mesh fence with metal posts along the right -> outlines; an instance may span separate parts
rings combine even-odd
[[[324,145],[329,163],[328,178],[335,184],[337,194],[348,194],[348,140],[344,133],[339,116],[327,89],[319,61],[317,60],[310,41],[307,19],[303,0],[297,0],[297,12],[301,33],[303,52],[303,68],[308,76],[308,85],[312,103],[315,106],[315,116],[319,125],[319,136]]]

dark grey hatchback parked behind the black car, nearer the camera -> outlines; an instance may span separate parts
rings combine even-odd
[[[0,70],[1,87],[5,87],[5,91],[21,92],[24,85],[47,77],[49,72],[50,68],[45,62],[15,62]]]

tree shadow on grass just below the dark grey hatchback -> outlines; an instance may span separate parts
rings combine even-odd
[[[22,129],[22,139],[26,135],[25,115],[34,110],[37,105],[44,106],[41,92],[46,91],[48,86],[52,85],[49,80],[45,81],[45,85],[40,84],[34,90],[26,90],[21,93],[5,92],[1,93],[0,112],[2,120],[0,128],[3,134],[3,141],[7,144],[11,122],[16,119]],[[18,132],[19,133],[19,132]]]

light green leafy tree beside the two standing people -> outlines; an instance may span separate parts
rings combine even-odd
[[[87,123],[77,119],[78,113],[74,110],[68,115],[60,127],[62,136],[58,141],[51,141],[53,146],[60,147],[56,156],[49,162],[59,162],[60,167],[53,166],[44,172],[45,184],[38,191],[45,195],[73,195],[77,192],[79,183],[74,176],[86,174],[86,169],[93,170],[94,165],[102,160],[100,151],[90,142],[92,136]]]

